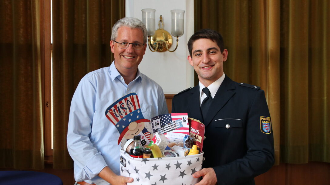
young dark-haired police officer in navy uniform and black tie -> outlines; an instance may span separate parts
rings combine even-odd
[[[222,36],[210,29],[188,41],[188,61],[199,85],[178,93],[172,113],[205,124],[203,169],[193,177],[202,184],[254,184],[254,177],[274,164],[274,140],[264,91],[232,81],[223,72],[228,51]]]

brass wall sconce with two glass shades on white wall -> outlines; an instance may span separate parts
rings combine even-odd
[[[148,46],[152,52],[173,52],[178,48],[179,37],[183,35],[184,10],[171,10],[171,34],[177,38],[177,46],[174,50],[169,48],[173,44],[170,33],[164,30],[163,17],[160,15],[158,29],[155,31],[155,9],[143,9],[142,21],[146,24],[148,35]]]

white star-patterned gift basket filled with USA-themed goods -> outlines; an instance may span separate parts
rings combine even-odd
[[[114,102],[105,112],[120,137],[120,174],[127,184],[196,184],[202,169],[205,125],[187,113],[144,119],[136,93]]]

